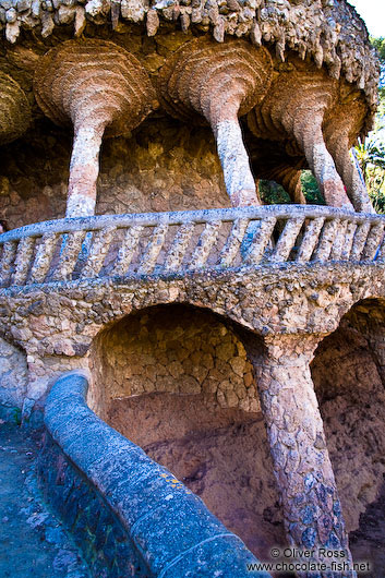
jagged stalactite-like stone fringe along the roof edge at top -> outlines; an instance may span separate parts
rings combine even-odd
[[[10,43],[20,38],[24,27],[37,28],[46,38],[56,26],[73,23],[79,36],[87,22],[106,23],[116,29],[121,20],[136,25],[146,21],[149,36],[168,21],[183,32],[191,24],[198,25],[218,43],[228,36],[250,38],[255,46],[269,43],[279,62],[296,51],[302,59],[312,59],[317,68],[324,67],[332,77],[345,76],[354,83],[370,107],[365,130],[373,120],[380,67],[363,21],[346,0],[22,0],[5,4],[0,29]]]

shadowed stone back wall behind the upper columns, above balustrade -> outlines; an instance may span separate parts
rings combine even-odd
[[[3,148],[0,218],[10,228],[64,216],[70,155],[70,132],[48,121]],[[100,160],[97,214],[230,206],[209,129],[154,118],[106,141]]]

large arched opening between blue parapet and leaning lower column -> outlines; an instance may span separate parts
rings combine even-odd
[[[132,314],[95,340],[91,399],[266,558],[285,537],[242,330],[188,305]]]

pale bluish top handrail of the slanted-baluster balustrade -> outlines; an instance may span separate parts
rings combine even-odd
[[[95,215],[92,217],[62,218],[26,225],[0,234],[0,244],[19,241],[26,237],[40,237],[46,233],[67,233],[79,230],[95,231],[105,227],[124,228],[133,225],[156,227],[157,225],[204,224],[216,220],[222,222],[237,218],[339,218],[351,222],[382,222],[385,215],[352,213],[350,210],[322,205],[264,205],[253,207],[209,208],[200,210],[175,210],[168,213],[137,213],[124,215]]]

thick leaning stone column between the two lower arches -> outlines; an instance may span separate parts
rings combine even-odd
[[[342,559],[351,564],[309,368],[317,342],[315,336],[272,336],[265,339],[265,352],[251,353],[251,357],[282,503],[288,545],[311,550],[312,559],[327,564],[333,558],[324,557],[321,549],[344,550],[346,557]],[[315,574],[309,573],[309,576]],[[321,571],[316,576],[353,577],[356,573]]]

